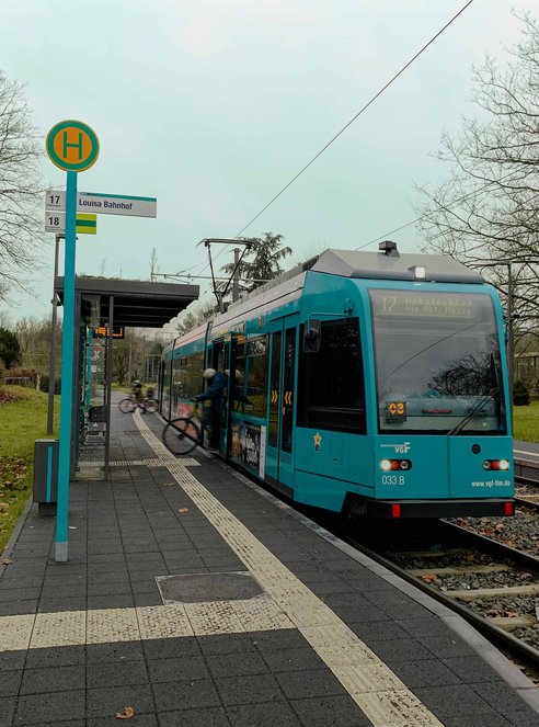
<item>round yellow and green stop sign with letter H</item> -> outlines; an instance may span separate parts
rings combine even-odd
[[[47,134],[47,154],[50,161],[68,172],[81,172],[95,163],[100,143],[93,129],[78,121],[55,124]]]

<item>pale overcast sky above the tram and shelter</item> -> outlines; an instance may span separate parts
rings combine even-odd
[[[45,137],[64,118],[98,134],[79,190],[156,196],[157,219],[102,215],[79,237],[78,273],[207,275],[205,237],[233,237],[466,0],[3,0],[0,68],[26,84]],[[506,60],[511,9],[474,0],[462,15],[243,234],[280,232],[299,262],[357,248],[415,217],[414,183],[445,175],[435,155],[470,103],[472,65]],[[47,158],[44,184],[65,184]],[[34,296],[50,306],[54,236]],[[393,236],[416,250],[413,227]],[[370,249],[376,249],[371,246]],[[217,250],[219,251],[219,250]],[[217,264],[231,260],[221,249]],[[193,281],[207,288],[207,281]],[[206,296],[206,299],[209,299]]]

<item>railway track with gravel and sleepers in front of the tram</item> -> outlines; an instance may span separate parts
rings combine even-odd
[[[539,524],[539,513],[536,518]],[[346,539],[459,613],[537,680],[539,557],[446,521],[421,542],[405,532],[389,546],[379,544],[386,539],[380,533],[368,545]]]

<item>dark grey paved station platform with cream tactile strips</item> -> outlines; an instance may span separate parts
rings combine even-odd
[[[0,727],[534,727],[539,691],[445,606],[153,414],[112,478],[23,514],[0,566]]]

